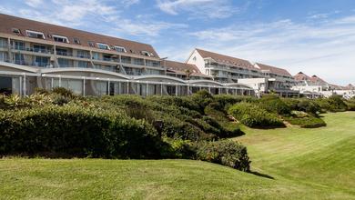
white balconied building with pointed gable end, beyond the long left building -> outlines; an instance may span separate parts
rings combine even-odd
[[[259,63],[253,65],[248,60],[201,49],[195,49],[187,63],[197,65],[201,72],[220,83],[249,85],[258,95],[270,92],[283,96],[299,95],[290,89],[295,85],[292,75],[279,67]]]

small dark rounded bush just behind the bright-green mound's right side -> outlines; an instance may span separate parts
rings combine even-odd
[[[270,113],[278,115],[289,115],[291,109],[278,95],[263,95],[259,100],[259,106]]]

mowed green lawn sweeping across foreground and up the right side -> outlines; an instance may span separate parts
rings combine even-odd
[[[244,128],[253,174],[190,160],[0,159],[1,199],[355,199],[355,112]]]

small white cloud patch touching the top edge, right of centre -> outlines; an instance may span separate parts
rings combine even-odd
[[[228,0],[157,0],[157,7],[169,15],[187,11],[193,18],[227,18],[239,11]]]

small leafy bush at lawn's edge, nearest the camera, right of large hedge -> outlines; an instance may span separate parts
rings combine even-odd
[[[227,165],[245,172],[250,170],[247,147],[231,140],[198,144],[197,158],[211,163]]]

